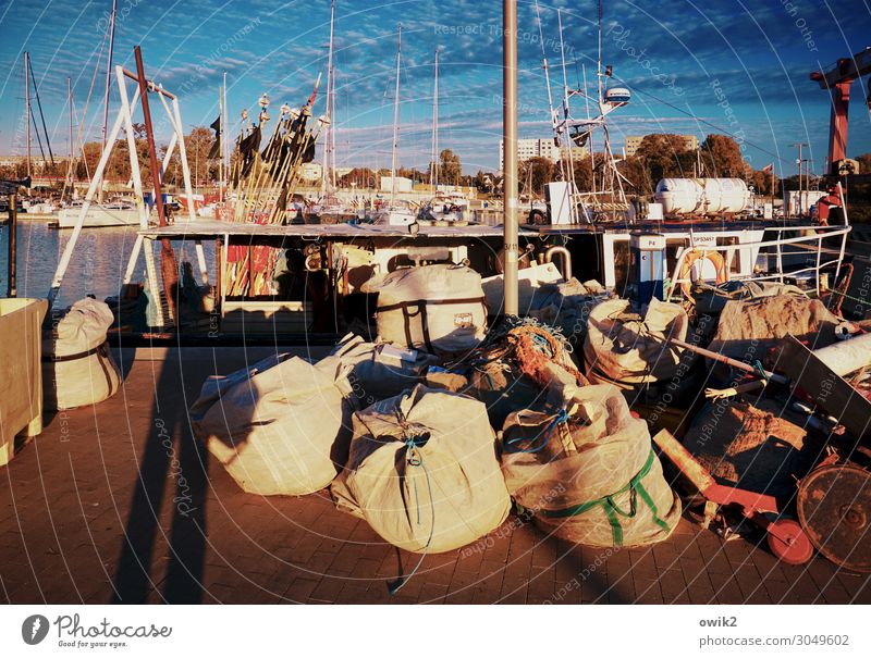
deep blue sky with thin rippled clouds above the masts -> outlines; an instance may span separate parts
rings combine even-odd
[[[390,165],[402,22],[401,163],[425,167],[429,160],[438,47],[440,145],[461,154],[466,172],[498,166],[501,7],[481,0],[338,0],[338,163]],[[25,50],[33,58],[52,146],[68,152],[66,77],[73,79],[81,115],[110,8],[111,0],[0,0],[0,153],[24,148]],[[578,85],[585,67],[594,84],[596,2],[544,0],[540,8],[554,94],[562,94],[557,8],[568,84]],[[520,135],[549,137],[535,4],[519,1],[518,13]],[[225,71],[235,122],[263,91],[274,109],[305,101],[318,73],[326,73],[329,17],[328,0],[119,0],[115,61],[134,69],[133,47],[139,44],[149,76],[179,91],[188,128],[214,119]],[[809,72],[871,46],[868,0],[605,1],[603,25],[603,61],[635,91],[630,105],[611,115],[616,147],[626,135],[729,132],[744,140],[753,166],[774,162],[786,175],[796,169],[789,145],[797,141],[810,145],[815,171],[824,165],[830,100],[808,79]],[[102,75],[84,123],[89,138],[97,138],[102,126]],[[112,113],[116,98],[113,89]],[[867,98],[867,80],[855,83],[851,156],[871,151]],[[159,105],[152,108],[157,113]],[[323,96],[316,111],[323,111]],[[576,113],[582,111],[576,105]],[[165,123],[159,125],[159,138],[165,129]]]

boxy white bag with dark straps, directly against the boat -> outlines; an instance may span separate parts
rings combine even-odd
[[[481,275],[465,265],[396,270],[364,289],[378,293],[378,334],[388,343],[456,353],[475,348],[487,333]]]

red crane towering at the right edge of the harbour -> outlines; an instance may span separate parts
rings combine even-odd
[[[832,115],[829,122],[829,174],[837,176],[843,160],[847,158],[847,112],[850,104],[850,86],[871,73],[871,46],[851,58],[838,60],[829,71],[814,71],[810,79],[832,94]],[[869,109],[871,109],[871,80],[869,82]],[[871,172],[862,172],[871,173]]]

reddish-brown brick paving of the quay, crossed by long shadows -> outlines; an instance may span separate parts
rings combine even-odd
[[[269,349],[116,351],[123,388],[47,419],[0,469],[0,601],[871,603],[869,575],[820,557],[790,567],[764,542],[724,543],[686,518],[653,547],[596,549],[513,516],[428,556],[391,597],[385,583],[416,556],[339,512],[327,491],[245,494],[192,437],[187,408],[205,377]]]

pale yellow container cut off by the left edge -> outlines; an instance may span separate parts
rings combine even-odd
[[[0,465],[42,431],[41,326],[47,310],[45,299],[0,299]]]

